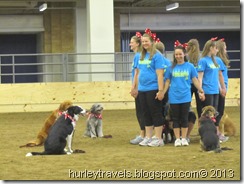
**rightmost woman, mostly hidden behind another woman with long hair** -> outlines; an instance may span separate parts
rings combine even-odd
[[[226,87],[226,93],[228,91],[228,68],[230,67],[230,60],[226,51],[226,43],[224,41],[224,39],[219,39],[217,41],[217,48],[218,48],[218,52],[217,52],[217,56],[223,61],[223,70],[222,70],[222,74],[224,77],[224,83],[225,83],[225,87]],[[218,112],[219,115],[216,118],[217,122],[220,122],[223,114],[224,114],[224,109],[225,109],[225,94],[223,94],[223,91],[220,91],[219,94],[219,103],[218,103]],[[225,137],[223,133],[221,133],[219,131],[219,139],[222,142],[225,142],[228,140],[228,137]]]

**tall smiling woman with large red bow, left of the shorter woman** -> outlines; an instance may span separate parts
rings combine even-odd
[[[165,61],[155,48],[155,34],[146,29],[143,34],[142,52],[138,63],[138,97],[142,107],[146,136],[141,146],[163,146],[162,99]],[[136,76],[135,76],[136,78]],[[136,79],[135,79],[136,80]],[[137,80],[136,80],[137,81]],[[155,138],[152,139],[153,129]]]

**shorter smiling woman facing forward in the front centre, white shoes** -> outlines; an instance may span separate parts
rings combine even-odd
[[[204,91],[197,79],[197,71],[193,64],[187,62],[183,45],[174,48],[172,67],[166,70],[163,93],[169,88],[169,104],[172,110],[173,129],[176,137],[174,145],[188,146],[186,139],[188,130],[188,112],[191,104],[191,81],[198,89],[200,99],[204,100]],[[181,136],[181,139],[180,139]]]

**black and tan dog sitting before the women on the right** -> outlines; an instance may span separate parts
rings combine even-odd
[[[222,151],[217,135],[217,128],[214,124],[216,122],[216,116],[217,111],[213,106],[206,106],[202,109],[198,132],[201,137],[200,145],[203,151],[214,151],[215,153]]]

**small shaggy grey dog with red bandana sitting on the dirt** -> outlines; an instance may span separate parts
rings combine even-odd
[[[111,135],[103,135],[103,122],[102,122],[103,106],[99,103],[92,105],[90,112],[88,112],[88,118],[86,121],[85,137],[101,137],[111,138]]]

